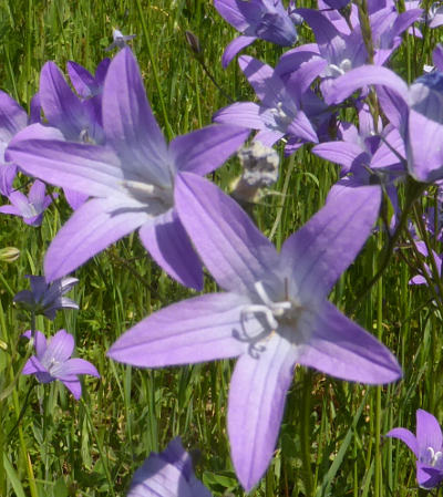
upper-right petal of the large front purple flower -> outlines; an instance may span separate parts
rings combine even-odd
[[[342,188],[281,248],[284,267],[302,292],[324,298],[356,259],[379,216],[378,185]]]

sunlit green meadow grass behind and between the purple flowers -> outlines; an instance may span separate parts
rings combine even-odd
[[[222,69],[223,50],[235,31],[209,0],[1,0],[0,87],[28,108],[45,61],[64,70],[73,60],[93,72],[112,41],[113,27],[137,34],[131,45],[154,114],[169,136],[209,124],[213,113],[228,104],[193,56],[186,30],[199,38],[205,63],[224,91],[236,101],[254,99],[235,62]],[[409,81],[431,62],[439,39],[435,32],[424,34],[424,41],[408,38],[395,55],[394,66]],[[312,39],[308,29],[300,37]],[[247,53],[272,65],[282,49],[258,42]],[[215,179],[227,188],[238,172],[231,159]],[[256,206],[258,226],[272,234],[279,247],[323,205],[337,177],[336,166],[306,149],[284,159],[276,189],[285,196],[268,197]],[[41,228],[19,218],[0,218],[0,247],[20,249],[17,261],[0,262],[0,340],[6,344],[0,349],[0,395],[9,393],[0,397],[0,496],[124,496],[144,458],[176,435],[183,437],[197,476],[215,496],[245,495],[231,467],[226,434],[233,361],[142,371],[105,358],[131,325],[194,294],[158,269],[137,235],[76,271],[80,283],[71,297],[80,303],[79,312],[61,312],[53,323],[38,319],[38,329],[47,334],[60,328],[71,332],[78,355],[93,362],[102,379],[85,379],[81,402],[58,382],[40,385],[19,376],[14,383],[25,354],[20,334],[29,328],[29,317],[12,304],[12,297],[28,288],[25,275],[41,273],[44,251],[69,216],[59,198]],[[331,300],[390,346],[403,365],[403,380],[368,387],[297,367],[275,458],[250,495],[424,495],[416,489],[413,456],[381,435],[394,426],[414,432],[419,407],[443,421],[441,314],[429,303],[425,288],[408,284],[412,273],[399,253],[356,308],[383,244],[382,234],[368,240]],[[208,279],[206,291],[214,288]]]

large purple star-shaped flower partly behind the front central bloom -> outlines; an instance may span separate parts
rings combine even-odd
[[[23,132],[28,139],[18,137],[8,151],[28,173],[94,197],[75,210],[49,247],[47,278],[73,271],[140,228],[155,261],[183,284],[200,289],[202,263],[175,208],[176,178],[186,170],[210,173],[243,145],[249,131],[213,125],[167,145],[130,49],[107,70],[103,128],[106,146],[32,139],[31,126]]]

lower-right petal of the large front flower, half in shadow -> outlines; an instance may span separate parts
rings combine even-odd
[[[298,362],[342,380],[384,384],[402,370],[390,350],[326,301]]]

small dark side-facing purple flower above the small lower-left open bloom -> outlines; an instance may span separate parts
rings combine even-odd
[[[65,293],[79,282],[76,278],[62,278],[47,283],[44,276],[27,276],[31,290],[21,290],[13,298],[14,302],[20,302],[25,309],[35,314],[44,314],[51,321],[55,318],[59,309],[79,309],[79,306]]]

